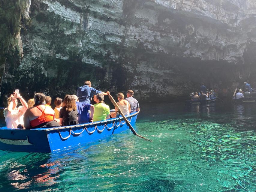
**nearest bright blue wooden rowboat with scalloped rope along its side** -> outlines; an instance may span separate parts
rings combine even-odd
[[[135,125],[139,112],[127,119]],[[129,129],[122,117],[68,127],[9,129],[0,127],[0,149],[17,152],[54,152],[89,143]]]

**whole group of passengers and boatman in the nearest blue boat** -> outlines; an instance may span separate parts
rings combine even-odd
[[[8,98],[8,107],[4,109],[6,126],[20,129],[53,128],[117,117],[118,109],[115,108],[115,111],[110,113],[110,107],[104,103],[104,95],[109,95],[110,92],[98,91],[91,85],[90,81],[85,81],[84,85],[77,89],[76,95],[66,95],[64,99],[55,98],[54,110],[50,106],[50,96],[35,93],[34,98],[26,102],[19,90],[15,90]],[[127,98],[124,98],[123,93],[117,94],[117,104],[125,116],[140,111],[139,103],[133,98],[133,94],[132,90],[127,91]],[[17,99],[22,106],[17,107]]]

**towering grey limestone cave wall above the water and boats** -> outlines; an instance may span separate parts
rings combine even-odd
[[[4,95],[13,88],[28,98],[75,94],[84,80],[151,101],[198,91],[202,82],[220,91],[244,81],[256,86],[254,0],[0,4]]]

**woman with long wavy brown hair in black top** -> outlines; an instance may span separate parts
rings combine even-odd
[[[78,125],[78,113],[76,100],[71,95],[66,95],[62,109],[59,111],[59,123],[61,126]]]

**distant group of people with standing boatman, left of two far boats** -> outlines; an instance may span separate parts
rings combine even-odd
[[[202,85],[200,86],[199,93],[192,92],[188,96],[189,96],[190,100],[192,100],[192,101],[205,100],[207,98],[209,98],[209,99],[216,98],[214,90],[207,91],[207,88],[204,85],[204,83],[202,83]]]

